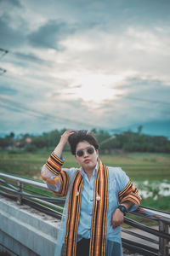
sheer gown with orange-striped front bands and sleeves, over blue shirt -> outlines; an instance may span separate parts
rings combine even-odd
[[[83,170],[78,171],[76,168],[61,170],[63,163],[63,160],[52,154],[46,166],[42,168],[42,178],[56,195],[67,195],[55,255],[75,256],[77,237],[79,236],[80,240],[81,234],[79,233],[82,232],[78,225],[82,224],[82,221],[79,224],[79,216],[83,209],[82,195],[86,193],[84,188],[87,182]],[[54,175],[47,175],[47,168]],[[88,221],[90,218],[91,229],[88,235],[85,234],[89,237],[84,237],[90,238],[89,255],[112,255],[113,251],[114,255],[122,255],[120,227],[113,230],[111,215],[115,212],[119,202],[127,200],[133,201],[137,208],[140,201],[138,190],[129,182],[121,168],[107,168],[99,160],[94,176],[93,214],[91,218],[87,216]]]

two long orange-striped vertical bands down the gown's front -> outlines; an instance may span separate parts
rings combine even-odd
[[[71,188],[71,194],[69,196],[64,256],[76,255],[82,187],[82,175],[77,171],[77,175]],[[107,167],[104,166],[100,160],[94,184],[94,199],[89,255],[105,256],[106,221],[109,201],[109,175]]]

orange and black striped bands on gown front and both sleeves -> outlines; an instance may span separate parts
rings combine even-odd
[[[60,160],[54,153],[48,158],[46,167],[54,172],[56,177],[48,179],[42,175],[42,179],[47,183],[56,184],[60,180],[59,191],[54,191],[55,195],[67,195],[70,178],[67,172],[61,169],[64,161]],[[64,256],[75,256],[77,249],[77,230],[80,216],[80,207],[82,199],[83,179],[82,174],[77,171],[71,186],[71,192],[68,201],[68,213],[66,219]],[[139,207],[141,201],[138,195],[138,189],[135,188],[130,181],[127,186],[118,193],[119,203],[132,201]],[[105,255],[105,237],[106,237],[106,221],[109,201],[109,174],[108,169],[99,160],[97,176],[94,183],[94,209],[91,224],[90,236],[90,256]]]

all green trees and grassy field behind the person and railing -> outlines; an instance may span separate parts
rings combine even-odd
[[[0,172],[41,180],[42,165],[59,143],[64,131],[55,130],[38,136],[22,134],[17,137],[11,132],[0,138]],[[170,141],[166,137],[142,134],[142,126],[137,132],[125,131],[115,135],[103,130],[92,131],[99,141],[101,160],[108,166],[121,166],[131,180],[137,183],[139,190],[145,191],[147,196],[143,196],[142,205],[170,212],[169,194],[160,194],[159,186],[170,183]],[[68,145],[64,155],[64,167],[77,166]],[[144,185],[145,181],[147,185]]]

